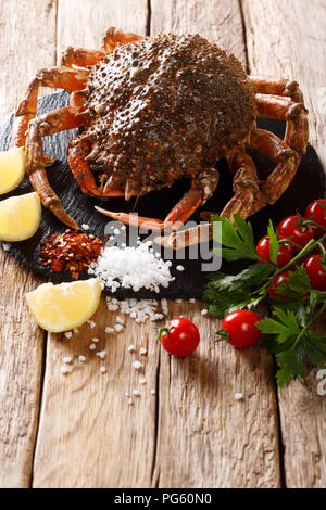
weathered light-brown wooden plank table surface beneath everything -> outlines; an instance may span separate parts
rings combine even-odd
[[[310,141],[326,165],[325,0],[1,0],[0,24],[0,119],[37,69],[59,63],[67,46],[100,48],[109,26],[199,33],[250,73],[300,82]],[[93,330],[71,341],[46,334],[24,301],[41,280],[2,248],[0,265],[0,486],[326,486],[326,396],[315,372],[277,390],[273,359],[258,348],[216,347],[200,304],[170,303],[171,315],[200,328],[200,348],[186,359],[160,348],[152,323],[130,319],[105,340],[115,313],[104,299]],[[105,374],[88,349],[92,336],[108,350]],[[148,349],[147,385],[134,406],[124,396],[139,379],[130,343]],[[62,377],[63,356],[80,354],[87,362]]]

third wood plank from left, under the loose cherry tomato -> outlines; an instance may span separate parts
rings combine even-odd
[[[229,48],[244,64],[237,1],[151,2],[151,33],[199,33]],[[184,360],[161,354],[159,434],[153,485],[277,487],[280,484],[271,358],[214,345],[200,307],[174,305],[199,326],[201,345]],[[236,393],[244,395],[235,401]]]

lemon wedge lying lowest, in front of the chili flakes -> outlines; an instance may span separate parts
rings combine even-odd
[[[72,283],[43,283],[26,294],[36,322],[47,331],[61,333],[79,328],[96,313],[101,298],[99,280]]]

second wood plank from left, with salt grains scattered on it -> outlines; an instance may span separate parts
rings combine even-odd
[[[146,34],[147,1],[60,1],[58,56],[68,44],[101,47],[106,28]],[[155,396],[158,348],[153,324],[135,328],[126,323],[125,333],[105,339],[104,327],[113,322],[102,303],[95,321],[97,328],[80,329],[71,341],[49,336],[45,374],[43,405],[35,456],[35,487],[148,487],[155,450]],[[99,337],[100,360],[88,348]],[[138,386],[140,374],[131,367],[135,355],[129,344],[148,348],[143,357],[147,384],[141,396],[128,406],[124,395]],[[63,356],[87,356],[75,361],[65,378],[60,373]],[[138,355],[139,356],[139,355]],[[99,372],[100,366],[108,373]]]

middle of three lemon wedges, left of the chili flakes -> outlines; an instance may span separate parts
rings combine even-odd
[[[36,192],[0,202],[0,239],[24,241],[32,238],[41,220],[41,203]]]

